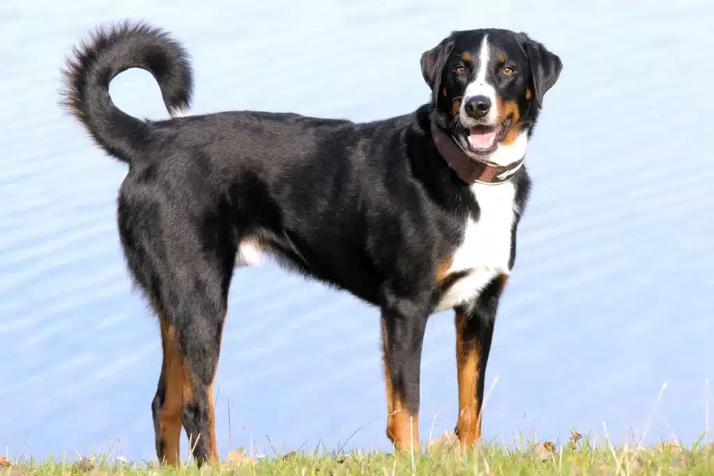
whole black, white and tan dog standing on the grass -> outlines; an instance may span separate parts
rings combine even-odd
[[[453,309],[462,447],[481,440],[498,302],[531,189],[523,161],[563,65],[528,34],[453,31],[421,56],[431,99],[354,123],[296,113],[186,116],[188,54],[144,22],[100,27],[64,66],[64,107],[129,165],[117,222],[126,264],[159,320],[151,402],[159,461],[218,459],[213,380],[233,271],[283,267],[381,311],[386,434],[418,450],[419,375],[429,315]],[[109,83],[151,72],[171,118],[117,108]]]

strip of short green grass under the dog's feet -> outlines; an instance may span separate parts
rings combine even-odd
[[[677,443],[615,448],[608,442],[596,443],[573,432],[570,440],[558,447],[551,442],[519,446],[521,449],[489,445],[460,452],[455,437],[444,434],[424,452],[399,455],[291,452],[256,459],[237,450],[225,462],[200,470],[193,463],[157,467],[153,462],[112,462],[108,457],[75,462],[17,460],[0,470],[0,476],[714,475],[714,444],[705,443],[704,437],[688,448]]]

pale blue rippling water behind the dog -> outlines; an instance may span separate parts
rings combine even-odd
[[[57,106],[71,47],[125,18],[188,48],[193,113],[385,118],[429,100],[421,53],[454,29],[542,41],[564,69],[529,148],[534,185],[498,314],[484,436],[604,437],[605,422],[614,442],[648,425],[648,442],[697,440],[714,400],[714,4],[584,5],[3,0],[0,452],[156,457],[158,326],[116,232],[126,166]],[[144,71],[121,74],[111,94],[134,116],[168,117]],[[278,453],[336,450],[355,431],[346,448],[389,449],[380,345],[375,308],[272,263],[241,270],[216,380],[221,455],[272,453],[268,437]],[[431,318],[422,369],[427,439],[456,422],[450,313]]]

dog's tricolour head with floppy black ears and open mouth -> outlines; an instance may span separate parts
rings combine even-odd
[[[455,31],[421,57],[433,120],[468,156],[500,166],[525,155],[543,95],[562,67],[526,34],[501,29]]]

